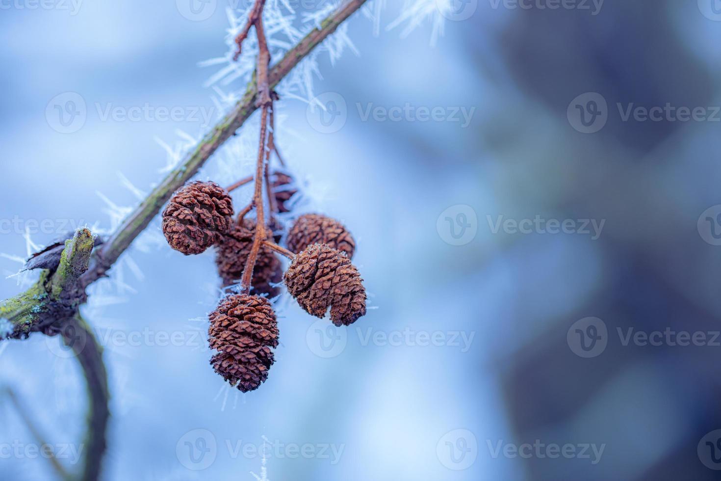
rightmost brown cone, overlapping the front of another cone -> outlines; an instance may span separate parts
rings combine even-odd
[[[350,259],[326,244],[313,244],[293,257],[285,275],[288,292],[311,315],[351,325],[366,315],[366,288]]]

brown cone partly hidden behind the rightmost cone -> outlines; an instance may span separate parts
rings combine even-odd
[[[306,213],[300,217],[288,231],[288,249],[301,252],[312,244],[327,244],[353,258],[355,240],[345,226],[335,219],[319,213]]]

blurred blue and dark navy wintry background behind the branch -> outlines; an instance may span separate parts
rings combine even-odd
[[[717,479],[721,4],[468,0],[453,6],[470,15],[386,28],[424,1],[387,1],[378,32],[355,15],[358,54],[319,56],[314,91],[345,102],[340,128],[278,105],[298,209],[350,227],[373,309],[329,330],[278,299],[277,361],[240,394],[208,365],[213,253],[183,257],[154,222],[84,310],[110,371],[106,479],[252,480],[264,442],[270,480]],[[3,298],[33,278],[15,275],[26,228],[37,245],[110,229],[206,130],[187,109],[219,113],[204,87],[218,69],[198,62],[227,53],[224,2],[202,20],[182,0],[44,5],[0,4]],[[87,103],[71,133],[66,92]],[[144,105],[188,116],[102,115]],[[437,118],[418,120],[424,107]],[[251,149],[198,178],[247,175]],[[524,233],[523,219],[568,222]],[[57,338],[0,343],[0,387],[68,469],[83,383]],[[38,441],[0,401],[0,478],[55,479],[14,449]]]

